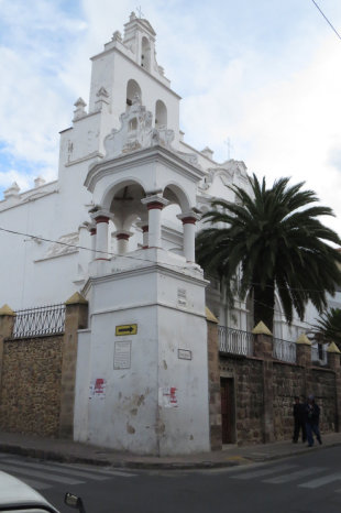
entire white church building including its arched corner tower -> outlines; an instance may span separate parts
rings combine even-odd
[[[186,144],[180,98],[146,20],[131,13],[123,36],[114,32],[91,61],[89,105],[79,98],[61,132],[58,178],[37,177],[26,192],[13,184],[0,201],[0,304],[19,310],[76,292],[88,301],[75,439],[161,455],[175,440],[179,452],[209,450],[206,306],[240,330],[253,328],[252,307],[228,310],[195,262],[195,234],[212,198],[234,201],[230,185],[250,187],[246,167]],[[297,323],[290,334],[276,310],[278,338],[305,330]],[[89,402],[98,375],[106,401]],[[136,425],[144,428],[132,438]]]

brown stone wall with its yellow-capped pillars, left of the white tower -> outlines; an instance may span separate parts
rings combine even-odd
[[[72,438],[78,329],[88,304],[76,293],[66,303],[65,331],[14,339],[15,313],[0,308],[0,428]]]

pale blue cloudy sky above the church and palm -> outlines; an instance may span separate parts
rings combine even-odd
[[[341,1],[316,0],[341,33]],[[57,176],[58,131],[130,0],[0,0],[0,197]],[[312,0],[145,0],[180,128],[272,184],[306,181],[341,234],[341,40]]]

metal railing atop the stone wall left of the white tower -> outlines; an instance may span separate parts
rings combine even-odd
[[[65,305],[41,306],[15,312],[13,338],[64,332]]]

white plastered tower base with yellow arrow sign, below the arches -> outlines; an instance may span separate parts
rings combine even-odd
[[[206,451],[205,286],[197,265],[148,249],[95,263],[79,334],[75,439],[135,454]]]

